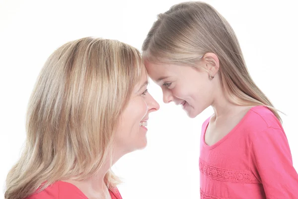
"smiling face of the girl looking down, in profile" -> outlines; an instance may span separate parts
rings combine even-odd
[[[201,65],[205,67],[204,62]],[[163,101],[182,105],[189,117],[196,117],[213,103],[216,84],[204,70],[149,61],[145,66],[149,77],[161,87]]]

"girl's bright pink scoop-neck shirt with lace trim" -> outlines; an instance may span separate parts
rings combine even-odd
[[[265,106],[251,108],[222,140],[205,143],[202,127],[201,199],[298,199],[298,174],[282,125]]]

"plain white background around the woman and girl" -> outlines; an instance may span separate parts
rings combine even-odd
[[[60,45],[85,36],[141,49],[156,15],[180,0],[0,0],[0,188],[25,140],[25,112],[37,75]],[[298,170],[296,0],[206,0],[229,21],[253,80],[285,112],[284,129]],[[195,119],[164,104],[150,114],[148,147],[115,165],[123,199],[198,199],[199,137],[208,108]]]

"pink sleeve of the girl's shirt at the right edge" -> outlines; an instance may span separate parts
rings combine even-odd
[[[298,199],[298,174],[285,132],[268,127],[251,139],[250,166],[267,199]]]

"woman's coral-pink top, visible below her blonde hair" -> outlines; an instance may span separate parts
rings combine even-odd
[[[122,199],[119,191],[109,190],[112,199]],[[88,199],[77,187],[71,183],[58,181],[45,190],[33,194],[26,199]]]

